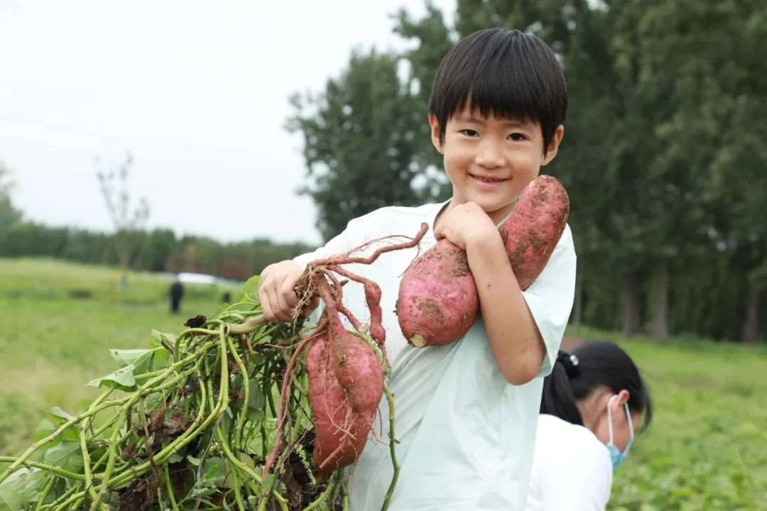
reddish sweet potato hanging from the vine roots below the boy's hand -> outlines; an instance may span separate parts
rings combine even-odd
[[[314,453],[320,479],[353,464],[367,441],[384,394],[384,372],[370,346],[335,316],[328,339],[318,338],[306,357],[314,412]]]

